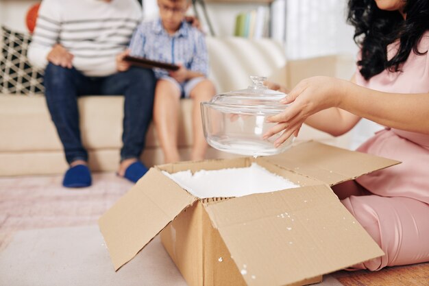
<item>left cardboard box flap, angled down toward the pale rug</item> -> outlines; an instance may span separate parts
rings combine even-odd
[[[99,219],[114,269],[130,261],[187,206],[197,200],[151,168]]]

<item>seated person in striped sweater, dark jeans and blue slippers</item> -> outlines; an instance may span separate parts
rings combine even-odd
[[[43,0],[29,47],[29,61],[45,70],[45,96],[67,163],[64,187],[91,184],[82,145],[77,98],[124,95],[123,147],[118,174],[136,182],[152,117],[155,78],[123,57],[142,12],[136,0]]]

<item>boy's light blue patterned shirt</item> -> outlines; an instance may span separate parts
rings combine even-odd
[[[182,64],[186,69],[208,74],[208,53],[204,34],[186,21],[173,35],[162,26],[161,19],[141,23],[130,43],[131,56]],[[154,69],[156,78],[169,76],[164,69]]]

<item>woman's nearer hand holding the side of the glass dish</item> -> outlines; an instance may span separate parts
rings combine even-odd
[[[269,122],[277,123],[263,136],[264,139],[284,130],[282,136],[274,141],[275,147],[280,146],[292,134],[298,136],[302,123],[321,110],[339,106],[341,94],[346,81],[336,78],[317,76],[302,80],[280,102],[291,104],[278,115],[268,118]]]

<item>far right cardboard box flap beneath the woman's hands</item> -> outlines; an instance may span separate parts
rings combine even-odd
[[[261,159],[331,186],[400,163],[315,141],[301,143],[282,154]]]

